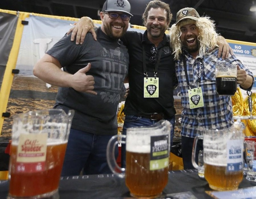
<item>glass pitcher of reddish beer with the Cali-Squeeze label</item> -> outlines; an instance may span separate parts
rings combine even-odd
[[[74,110],[40,110],[13,117],[7,199],[58,199]]]

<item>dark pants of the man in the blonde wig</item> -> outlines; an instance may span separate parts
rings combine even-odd
[[[195,169],[192,165],[192,149],[194,143],[193,137],[181,136],[181,151],[184,169]],[[198,153],[203,150],[203,140],[198,140],[196,146],[196,164],[198,163]]]

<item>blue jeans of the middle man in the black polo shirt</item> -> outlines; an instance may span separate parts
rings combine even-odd
[[[168,119],[172,124],[171,128],[171,146],[173,143],[173,135],[174,135],[174,124],[175,124],[175,116]],[[140,126],[150,126],[159,122],[158,120],[150,120],[148,118],[142,118],[141,116],[135,115],[125,115],[124,126],[123,126],[123,135],[126,135],[126,129],[130,127],[140,127]],[[125,144],[122,144],[121,147],[121,167],[125,168],[126,166],[126,149]]]

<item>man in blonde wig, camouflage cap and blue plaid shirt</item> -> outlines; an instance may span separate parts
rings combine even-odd
[[[194,8],[178,11],[176,24],[170,29],[171,46],[176,60],[175,71],[181,91],[181,144],[184,169],[194,168],[191,162],[192,146],[196,135],[205,129],[228,128],[233,124],[231,97],[216,91],[215,64],[218,46],[215,24],[209,17],[200,17]],[[237,65],[237,84],[251,90],[252,72],[235,55],[225,60]],[[199,102],[193,103],[193,91],[199,93]],[[203,143],[197,145],[203,150]],[[196,160],[197,161],[197,160]]]

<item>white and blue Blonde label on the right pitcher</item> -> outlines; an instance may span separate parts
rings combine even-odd
[[[227,172],[243,169],[243,140],[228,140],[227,143]]]

